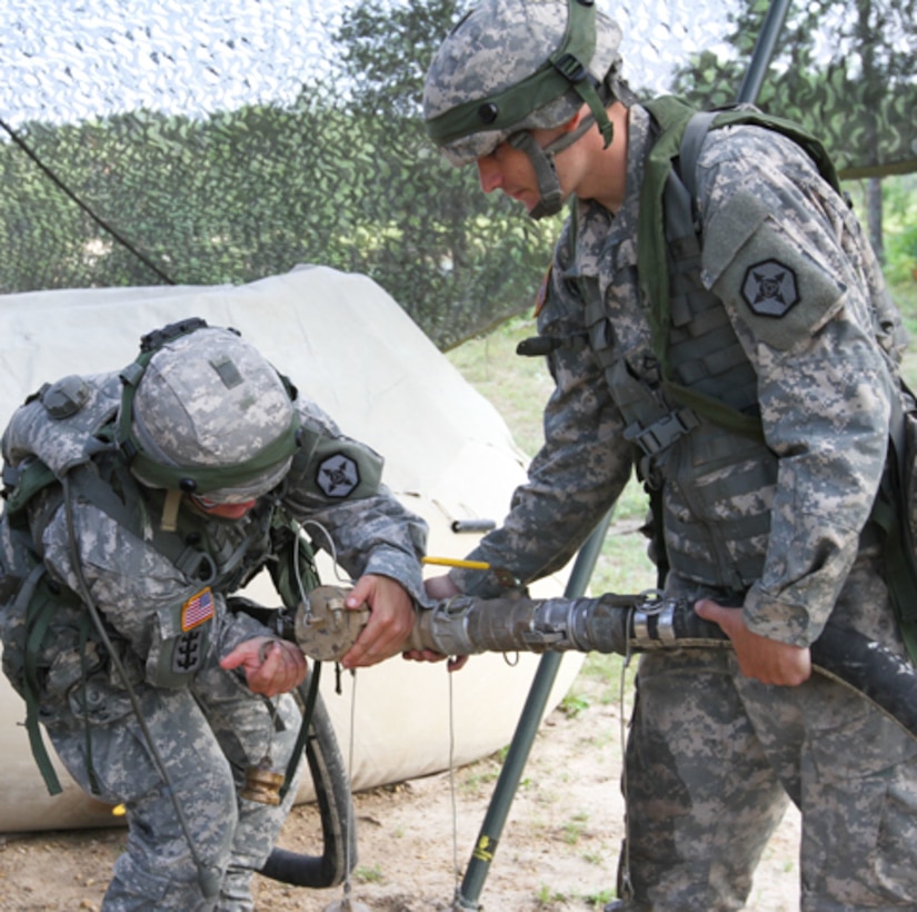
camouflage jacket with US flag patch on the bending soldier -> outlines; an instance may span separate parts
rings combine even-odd
[[[106,412],[106,397],[111,398],[112,408],[117,406],[117,375],[87,379],[102,400],[93,404],[94,410]],[[178,559],[158,548],[153,535],[161,493],[140,485],[132,488],[140,494],[140,503],[129,505],[143,517],[139,528],[119,522],[117,514],[93,503],[91,495],[78,498],[72,523],[81,573],[141,680],[156,686],[180,686],[191,680],[211,651],[220,657],[239,643],[265,635],[259,623],[227,609],[227,596],[277,559],[270,553],[270,531],[278,509],[299,524],[306,523],[316,544],[332,551],[353,578],[367,573],[389,576],[415,599],[422,597],[419,555],[426,541],[423,521],[403,509],[379,484],[381,460],[375,453],[342,437],[316,405],[298,400],[296,406],[312,439],[321,440],[311,459],[298,457],[282,485],[241,519],[208,517],[186,500],[182,509],[195,514],[195,521],[191,531],[183,531],[189,546]],[[43,435],[50,435],[53,446],[56,422],[49,418],[42,425],[42,412],[33,400],[13,416],[4,436],[8,462],[18,463],[29,453],[40,452]],[[54,487],[36,499],[30,506],[31,528],[40,536],[34,544],[44,567],[52,581],[79,592],[68,519],[58,506],[59,492]],[[6,539],[10,546],[8,529]],[[73,617],[66,618],[68,612],[62,608],[51,630],[69,631],[72,637],[82,608],[71,611]],[[14,613],[6,613],[6,662],[16,661],[18,638],[11,627],[20,621]],[[185,635],[192,631],[193,636]],[[44,643],[48,655],[43,662],[53,687],[47,696],[63,695],[73,683],[70,676],[80,670],[80,661],[61,650],[60,643],[56,645],[52,636],[46,636]],[[63,673],[62,666],[68,673],[58,687],[57,671],[60,667]],[[43,708],[47,717],[51,703],[46,702]]]

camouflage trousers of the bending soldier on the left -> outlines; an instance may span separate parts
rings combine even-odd
[[[110,685],[89,682],[84,703],[96,720],[89,749],[83,706],[76,705],[79,688],[72,724],[49,726],[58,754],[81,787],[91,792],[94,775],[99,796],[127,809],[127,846],[102,909],[252,910],[251,874],[270,854],[296,783],[280,805],[250,801],[239,792],[246,767],[266,754],[273,769],[286,769],[299,731],[295,701],[252,694],[235,673],[217,665],[200,672],[189,690],[140,683],[134,692],[168,785],[137,716],[124,712],[123,693]]]

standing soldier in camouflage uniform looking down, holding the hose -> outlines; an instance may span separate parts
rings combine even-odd
[[[618,27],[591,14],[591,0],[485,0],[427,77],[428,131],[453,165],[477,166],[485,192],[536,218],[572,200],[537,311],[556,381],[546,443],[469,557],[524,583],[559,569],[636,466],[661,502],[666,592],[696,599],[735,646],[640,660],[609,909],[741,908],[788,800],[803,814],[803,910],[917,908],[917,745],[811,677],[809,656],[829,617],[904,655],[869,522],[900,320],[808,155],[760,126],[710,130],[696,286],[667,301],[671,379],[759,415],[764,440],[670,396],[658,303],[637,276],[638,232],[661,215],[640,205],[656,126],[621,80]],[[500,593],[469,568],[427,587]]]

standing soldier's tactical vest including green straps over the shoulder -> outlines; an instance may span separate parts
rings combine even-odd
[[[639,452],[650,495],[659,585],[670,566],[689,579],[734,589],[759,577],[769,534],[776,456],[764,444],[754,368],[725,308],[700,280],[702,237],[695,171],[711,128],[751,123],[796,141],[840,192],[824,146],[791,121],[741,106],[696,112],[675,98],[645,102],[655,140],[646,162],[638,228],[638,277],[652,356],[642,370],[612,355],[605,303],[579,277],[590,345]],[[575,228],[575,215],[570,218]],[[570,252],[576,236],[568,232]],[[590,287],[591,286],[591,287]],[[877,343],[890,349],[899,319],[873,301]],[[904,381],[891,395],[889,459],[870,521],[881,532],[886,578],[911,661],[917,661],[917,413]],[[667,497],[660,492],[666,480]],[[728,526],[717,504],[754,495]],[[698,522],[699,519],[699,522]],[[709,521],[709,522],[707,522]],[[664,533],[665,529],[665,533]]]

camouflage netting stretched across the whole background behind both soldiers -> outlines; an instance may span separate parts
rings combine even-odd
[[[736,97],[767,2],[601,8],[646,93]],[[447,348],[529,307],[557,224],[430,147],[422,77],[459,0],[6,0],[0,291],[366,272]],[[917,168],[915,0],[793,9],[762,107],[847,176]]]

